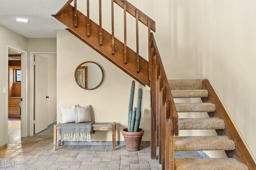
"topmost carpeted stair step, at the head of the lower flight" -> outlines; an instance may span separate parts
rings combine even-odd
[[[171,90],[200,90],[203,79],[168,80]]]

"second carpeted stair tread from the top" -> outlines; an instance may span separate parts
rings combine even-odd
[[[173,98],[206,98],[208,90],[172,90]]]

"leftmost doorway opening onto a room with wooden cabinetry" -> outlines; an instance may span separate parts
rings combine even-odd
[[[7,46],[8,143],[28,136],[27,52]]]

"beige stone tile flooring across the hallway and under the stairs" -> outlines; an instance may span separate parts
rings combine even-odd
[[[150,160],[150,146],[129,152],[124,145],[62,145],[53,150],[52,135],[34,135],[13,141],[0,150],[0,170],[161,170]],[[178,151],[176,158],[201,158],[197,152]],[[8,161],[8,162],[5,162]]]

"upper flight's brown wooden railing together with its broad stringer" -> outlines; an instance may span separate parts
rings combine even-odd
[[[73,1],[74,7],[70,5]],[[155,21],[126,0],[111,0],[112,33],[110,34],[102,29],[101,0],[99,0],[99,25],[90,20],[89,0],[86,1],[87,16],[77,10],[76,0],[68,0],[57,14],[52,16],[68,26],[68,31],[118,66],[124,72],[132,76],[135,80],[144,86],[150,86],[148,62],[139,55],[138,21],[146,25],[149,28],[149,31],[155,31]],[[121,8],[124,8],[124,43],[114,37],[114,3]],[[126,45],[126,12],[136,18],[136,53]],[[86,33],[86,35],[84,35],[84,33]],[[109,35],[111,37],[109,37]],[[90,39],[88,37],[92,38]],[[104,37],[104,39],[102,39],[102,37]],[[96,43],[99,43],[99,45]],[[109,54],[109,48],[111,49],[111,55],[114,55],[114,57]],[[135,58],[134,55],[136,56]],[[134,66],[136,67],[136,70],[132,70]]]

